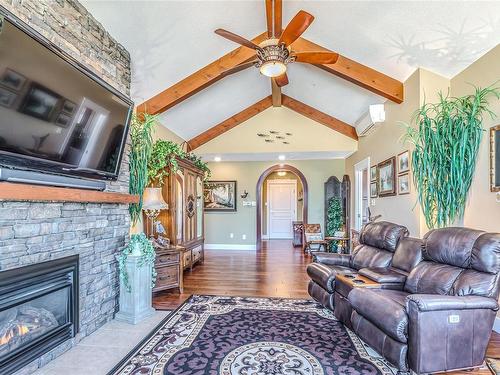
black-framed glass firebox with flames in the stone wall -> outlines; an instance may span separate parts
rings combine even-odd
[[[0,374],[78,332],[78,255],[0,272]]]

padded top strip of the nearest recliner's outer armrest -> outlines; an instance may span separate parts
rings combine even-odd
[[[437,294],[411,294],[406,297],[406,308],[416,308],[420,312],[443,310],[498,310],[498,302],[481,296],[443,296]]]

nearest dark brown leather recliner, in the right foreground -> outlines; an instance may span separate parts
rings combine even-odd
[[[432,230],[403,290],[354,288],[351,323],[400,371],[480,366],[493,328],[500,281],[500,234]]]

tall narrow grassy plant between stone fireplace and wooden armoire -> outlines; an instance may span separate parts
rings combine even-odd
[[[139,196],[139,203],[129,206],[132,225],[141,217],[142,195],[148,183],[148,160],[153,148],[152,132],[157,123],[157,116],[147,113],[134,114],[130,123],[129,151],[129,193]]]

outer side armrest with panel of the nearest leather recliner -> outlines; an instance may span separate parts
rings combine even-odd
[[[481,296],[406,297],[408,363],[417,374],[479,367],[498,304]]]

